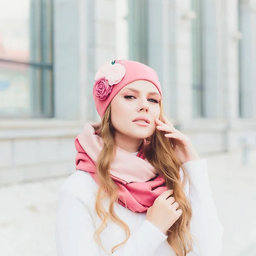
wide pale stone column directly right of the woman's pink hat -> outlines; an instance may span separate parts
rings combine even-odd
[[[165,113],[177,122],[192,118],[189,9],[189,0],[149,0],[148,64],[159,75]]]

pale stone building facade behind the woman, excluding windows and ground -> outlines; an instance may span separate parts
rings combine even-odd
[[[95,72],[120,49],[116,1],[55,1],[55,118],[1,120],[0,185],[75,170],[73,140],[85,122],[99,120],[91,95]],[[191,0],[148,1],[149,17],[154,17],[148,19],[148,65],[160,77],[166,115],[200,154],[239,148],[244,136],[254,140],[256,0],[241,4],[244,41],[237,0],[202,1],[205,116],[193,118]],[[239,78],[244,118],[239,117]]]

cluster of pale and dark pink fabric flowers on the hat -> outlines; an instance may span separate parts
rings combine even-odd
[[[105,62],[95,74],[95,95],[105,100],[112,91],[112,86],[118,84],[125,76],[125,67],[116,61]]]

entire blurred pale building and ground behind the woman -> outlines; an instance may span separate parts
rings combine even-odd
[[[208,159],[221,256],[256,256],[256,0],[0,0],[0,254],[56,256],[94,75],[120,58],[157,71]]]

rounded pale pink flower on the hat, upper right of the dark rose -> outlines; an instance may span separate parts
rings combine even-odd
[[[122,64],[115,63],[108,67],[105,73],[105,78],[108,80],[109,85],[118,84],[125,76],[125,67]]]

